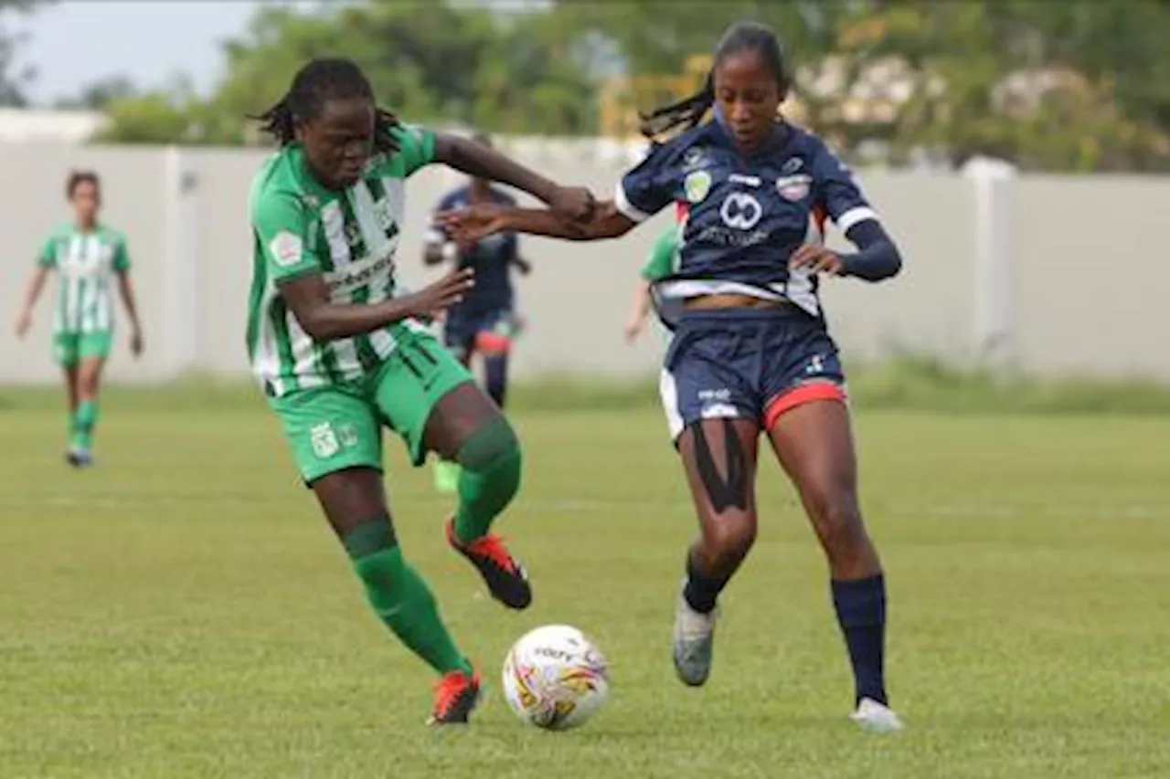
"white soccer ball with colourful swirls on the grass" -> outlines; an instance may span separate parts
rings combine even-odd
[[[567,625],[545,625],[512,644],[504,659],[504,697],[516,716],[544,730],[584,725],[610,695],[605,657]]]

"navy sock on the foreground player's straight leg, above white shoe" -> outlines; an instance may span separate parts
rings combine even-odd
[[[856,699],[886,698],[886,580],[881,574],[869,579],[834,579],[833,606],[845,634],[853,666]]]

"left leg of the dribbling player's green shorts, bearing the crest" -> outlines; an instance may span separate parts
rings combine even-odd
[[[381,426],[358,393],[342,387],[301,389],[269,405],[281,419],[307,484],[352,468],[381,471]]]

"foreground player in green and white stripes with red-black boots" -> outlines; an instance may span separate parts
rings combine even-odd
[[[473,274],[453,271],[414,294],[398,288],[404,187],[422,166],[442,163],[570,218],[587,214],[591,195],[483,146],[400,124],[347,60],[309,62],[259,118],[280,151],[250,197],[254,372],[374,611],[440,674],[429,722],[466,723],[479,675],[402,558],[383,490],[381,426],[417,466],[427,451],[460,464],[447,539],[510,608],[528,607],[531,588],[488,531],[519,485],[521,450],[496,405],[419,322],[461,301]]]

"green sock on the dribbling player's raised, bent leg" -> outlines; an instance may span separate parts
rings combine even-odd
[[[482,538],[519,489],[519,442],[502,416],[468,436],[459,449],[459,508],[455,538]]]

